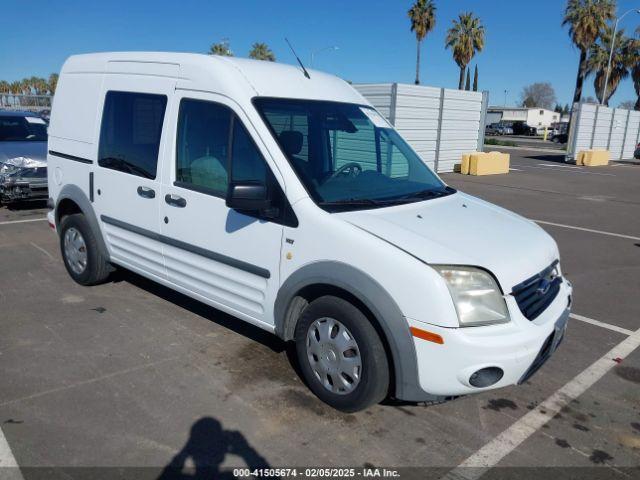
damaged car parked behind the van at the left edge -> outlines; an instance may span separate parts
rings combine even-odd
[[[47,193],[47,123],[30,112],[0,111],[0,202]]]

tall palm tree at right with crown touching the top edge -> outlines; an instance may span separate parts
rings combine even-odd
[[[615,0],[568,0],[562,26],[569,26],[569,36],[580,50],[580,63],[576,77],[573,103],[582,98],[582,86],[587,76],[587,54],[591,46],[615,18]]]

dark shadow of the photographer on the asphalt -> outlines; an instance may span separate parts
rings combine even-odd
[[[193,424],[189,440],[158,480],[234,479],[231,471],[220,471],[227,454],[240,457],[249,469],[269,468],[242,433],[224,430],[218,420],[203,417]]]

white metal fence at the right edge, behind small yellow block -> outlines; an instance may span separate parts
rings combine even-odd
[[[633,160],[640,143],[640,112],[576,103],[571,117],[567,160],[581,150],[609,150],[611,160]]]

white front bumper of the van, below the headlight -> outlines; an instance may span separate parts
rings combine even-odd
[[[407,318],[409,326],[436,333],[443,344],[413,339],[421,390],[432,396],[456,396],[516,385],[531,377],[564,337],[571,308],[571,284],[563,280],[556,299],[535,320],[526,319],[513,297],[507,298],[511,322],[469,328],[442,328]],[[474,387],[475,372],[498,368],[502,377]]]

